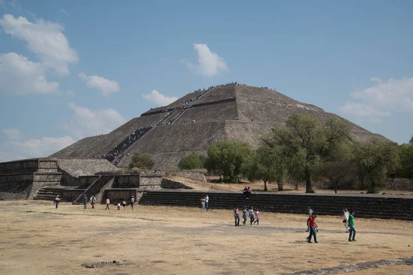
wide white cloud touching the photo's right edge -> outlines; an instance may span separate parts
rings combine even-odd
[[[375,85],[352,92],[350,96],[356,101],[346,102],[339,110],[364,117],[388,116],[393,111],[413,111],[413,78],[370,80]]]

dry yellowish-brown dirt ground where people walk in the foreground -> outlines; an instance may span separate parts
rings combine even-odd
[[[0,201],[0,274],[283,274],[413,256],[413,223],[318,217],[306,243],[306,214],[260,214],[235,227],[231,210],[138,206],[83,209],[50,201]],[[83,263],[122,265],[87,269]],[[354,274],[413,274],[399,265]]]

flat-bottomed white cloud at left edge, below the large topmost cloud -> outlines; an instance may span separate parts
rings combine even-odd
[[[10,52],[0,54],[0,94],[50,94],[59,89],[59,83],[47,82],[41,63]]]

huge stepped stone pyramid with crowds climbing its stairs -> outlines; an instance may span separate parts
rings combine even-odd
[[[241,140],[257,147],[262,135],[274,126],[285,126],[288,117],[295,112],[313,114],[321,121],[330,116],[343,119],[272,89],[220,85],[187,94],[168,106],[150,109],[111,133],[85,137],[50,157],[93,158],[107,155],[114,152],[114,147],[127,142],[136,129],[149,126],[148,131],[128,144],[122,152],[123,157],[109,160],[117,166],[126,167],[131,155],[141,151],[153,155],[155,169],[177,170],[182,156],[205,154],[211,144],[220,140]],[[386,140],[356,124],[351,125],[352,140],[368,140],[372,136]]]

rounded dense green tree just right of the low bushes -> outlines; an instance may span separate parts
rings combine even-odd
[[[222,140],[209,146],[205,166],[209,171],[222,173],[226,181],[237,182],[244,162],[253,155],[253,148],[247,142]]]

